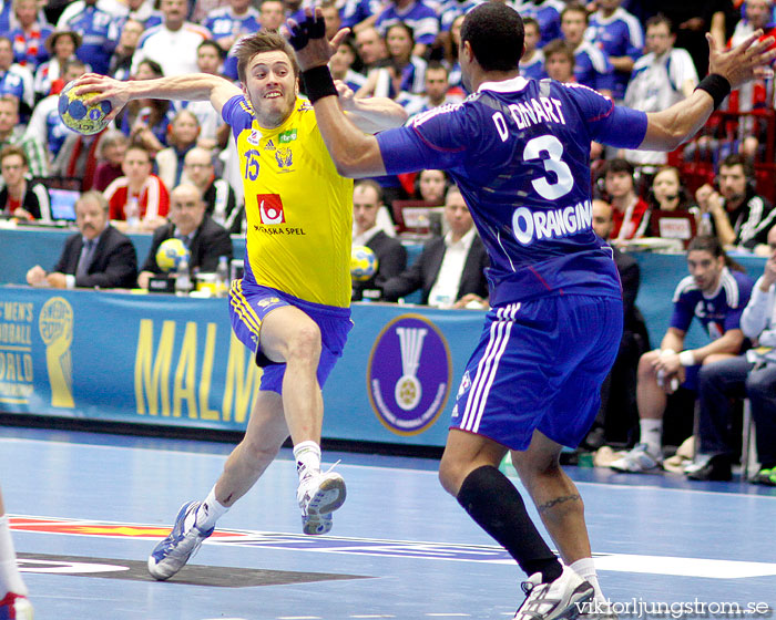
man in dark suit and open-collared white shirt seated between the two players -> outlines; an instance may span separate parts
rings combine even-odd
[[[386,301],[397,301],[421,289],[421,303],[428,306],[488,308],[488,255],[455,185],[445,196],[445,219],[450,231],[428,241],[409,269],[382,285]]]

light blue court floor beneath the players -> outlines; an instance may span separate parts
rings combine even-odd
[[[522,572],[445,494],[436,462],[325,452],[325,463],[341,458],[348,500],[330,536],[305,537],[287,450],[190,566],[153,581],[149,552],[181,504],[207,494],[229,448],[0,430],[35,618],[502,619],[522,601]],[[776,489],[568,471],[604,592],[630,606],[621,617],[774,617]]]

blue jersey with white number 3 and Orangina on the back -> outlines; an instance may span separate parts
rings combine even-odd
[[[378,134],[388,174],[442,168],[491,260],[491,306],[543,294],[620,297],[611,248],[593,232],[590,142],[635,148],[646,114],[579,84],[514,78]]]

